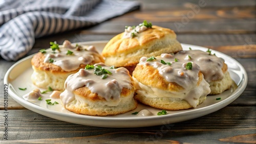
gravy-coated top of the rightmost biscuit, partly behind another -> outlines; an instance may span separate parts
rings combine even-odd
[[[180,51],[174,55],[178,61],[193,61],[200,66],[204,79],[209,83],[224,78],[227,71],[227,65],[222,58],[210,54],[210,51],[203,52],[200,50]]]

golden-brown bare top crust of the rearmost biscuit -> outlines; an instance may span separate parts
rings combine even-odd
[[[124,33],[116,35],[105,45],[102,51],[103,57],[137,52],[138,50],[145,49],[147,46],[156,44],[157,39],[164,37],[176,39],[176,34],[173,30],[158,26],[147,28],[133,38],[123,38]]]

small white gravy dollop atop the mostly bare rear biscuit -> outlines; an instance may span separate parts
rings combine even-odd
[[[122,38],[133,38],[134,36],[138,36],[139,33],[145,31],[147,27],[145,26],[136,26],[133,27],[127,27],[127,29],[124,29],[123,37]]]

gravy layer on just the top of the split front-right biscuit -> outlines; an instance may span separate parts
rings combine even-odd
[[[191,69],[186,68],[189,64]],[[198,84],[200,67],[194,62],[177,61],[170,54],[162,54],[155,59],[142,57],[139,65],[154,67],[167,82],[178,84],[183,89],[191,89]]]

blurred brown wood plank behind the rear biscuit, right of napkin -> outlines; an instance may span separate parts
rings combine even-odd
[[[246,34],[255,33],[255,7],[207,9],[168,9],[134,11],[85,29],[83,34],[118,34],[124,26],[136,26],[143,20],[174,30],[177,34]]]

